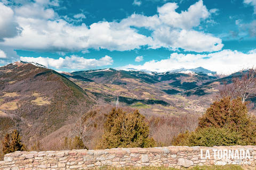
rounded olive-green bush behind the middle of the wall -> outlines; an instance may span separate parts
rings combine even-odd
[[[154,147],[155,141],[149,138],[149,125],[138,111],[126,113],[113,108],[104,124],[104,134],[97,149]]]

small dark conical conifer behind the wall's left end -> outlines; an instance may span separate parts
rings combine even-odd
[[[21,136],[17,130],[12,132],[12,141],[10,143],[10,151],[25,151],[26,146],[21,143]]]

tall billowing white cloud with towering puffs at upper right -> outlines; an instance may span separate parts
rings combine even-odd
[[[222,49],[220,38],[191,29],[197,27],[202,20],[209,18],[210,13],[217,12],[217,9],[209,12],[203,1],[198,1],[181,13],[175,12],[177,8],[176,3],[166,3],[158,7],[158,15],[132,14],[120,24],[146,27],[153,31],[151,34],[153,44],[149,44],[149,48],[166,47],[173,50],[183,48],[194,52],[214,52]]]

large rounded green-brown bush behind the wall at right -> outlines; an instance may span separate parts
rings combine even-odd
[[[175,146],[230,146],[256,144],[255,118],[247,114],[241,98],[215,101],[199,118],[194,132],[174,137]]]

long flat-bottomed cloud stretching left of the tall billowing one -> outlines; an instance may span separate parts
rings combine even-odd
[[[135,29],[120,28],[115,22],[98,22],[73,26],[64,20],[19,20],[23,31],[19,37],[6,39],[5,45],[27,50],[75,51],[85,48],[130,50],[140,48],[152,41]],[[40,25],[40,27],[38,27]]]

